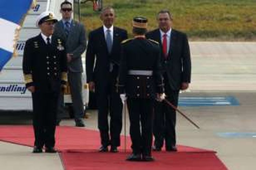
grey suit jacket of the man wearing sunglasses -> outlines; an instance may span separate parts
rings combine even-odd
[[[81,54],[86,49],[86,33],[82,23],[72,20],[70,32],[67,36],[62,20],[55,24],[54,34],[66,41],[66,52],[72,53],[72,60],[68,63],[70,72],[83,72]]]

